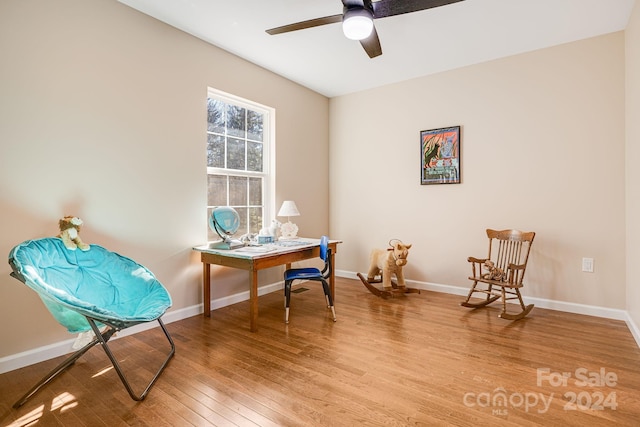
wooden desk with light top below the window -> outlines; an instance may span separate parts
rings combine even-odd
[[[258,270],[285,265],[291,268],[291,263],[305,259],[320,257],[320,239],[303,239],[296,242],[304,242],[304,245],[291,247],[278,247],[277,250],[266,253],[246,252],[240,249],[221,250],[210,249],[208,246],[193,248],[200,252],[202,260],[202,288],[204,300],[204,315],[211,317],[211,264],[225,267],[239,268],[250,272],[249,277],[249,320],[251,332],[258,330]],[[329,277],[331,295],[335,301],[335,254],[338,251],[339,240],[330,240],[331,265],[334,266]]]

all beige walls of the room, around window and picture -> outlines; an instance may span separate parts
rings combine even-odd
[[[276,109],[277,205],[296,200],[301,233],[344,240],[339,270],[365,271],[372,247],[400,238],[414,244],[409,279],[466,288],[486,227],[534,230],[525,295],[627,309],[640,324],[640,175],[627,168],[625,205],[622,155],[640,160],[639,13],[625,145],[622,33],[329,101],[114,1],[0,2],[0,253],[75,214],[85,241],[151,268],[172,310],[201,303],[190,248],[206,231],[213,86]],[[419,131],[451,125],[463,183],[419,185]],[[0,263],[0,359],[68,339],[8,273]],[[213,298],[247,290],[244,273],[214,274]]]

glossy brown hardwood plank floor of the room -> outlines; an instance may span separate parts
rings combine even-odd
[[[11,405],[62,358],[0,375],[0,424],[73,426],[637,426],[640,349],[624,322],[534,308],[460,307],[423,291],[380,299],[337,279],[167,325],[176,356],[146,400],[129,398],[94,348],[22,408]],[[525,297],[526,300],[526,297]],[[134,385],[166,341],[158,328],[112,342]],[[158,347],[158,349],[156,349]],[[564,377],[563,377],[564,373]],[[584,384],[588,383],[590,385]]]

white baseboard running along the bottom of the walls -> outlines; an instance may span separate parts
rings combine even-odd
[[[336,276],[344,277],[348,279],[358,279],[357,273],[345,270],[336,270]],[[461,288],[459,286],[442,285],[438,283],[418,282],[415,280],[407,280],[412,287],[417,289],[423,289],[426,291],[441,292],[454,295],[467,295],[468,288]],[[258,289],[258,295],[265,295],[274,291],[282,289],[282,282],[273,283],[270,285],[261,286]],[[565,311],[568,313],[585,314],[589,316],[603,317],[607,319],[624,320],[629,327],[629,331],[633,335],[636,344],[640,347],[640,329],[636,325],[629,314],[624,310],[611,309],[606,307],[598,307],[592,305],[575,304],[564,301],[553,301],[543,298],[525,297],[527,302],[534,303],[537,307],[547,308],[550,310]],[[240,292],[227,297],[218,298],[211,301],[211,309],[226,307],[231,304],[246,301],[249,299],[249,291]],[[180,310],[169,311],[162,317],[162,321],[165,324],[177,322],[178,320],[186,319],[196,316],[203,312],[203,304],[193,305],[191,307],[182,308]],[[157,327],[157,322],[144,323],[132,328],[126,329],[118,333],[113,339],[118,337],[126,337],[131,334],[145,331]],[[12,354],[0,358],[0,374],[13,371],[15,369],[23,368],[25,366],[33,365],[35,363],[43,362],[45,360],[53,359],[58,356],[71,353],[73,349],[71,346],[75,341],[75,336],[71,339],[60,341],[57,343],[49,344],[42,347],[37,347],[31,350],[23,351],[21,353]]]

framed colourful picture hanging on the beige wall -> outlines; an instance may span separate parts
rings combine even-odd
[[[460,184],[460,126],[420,131],[420,184]]]

